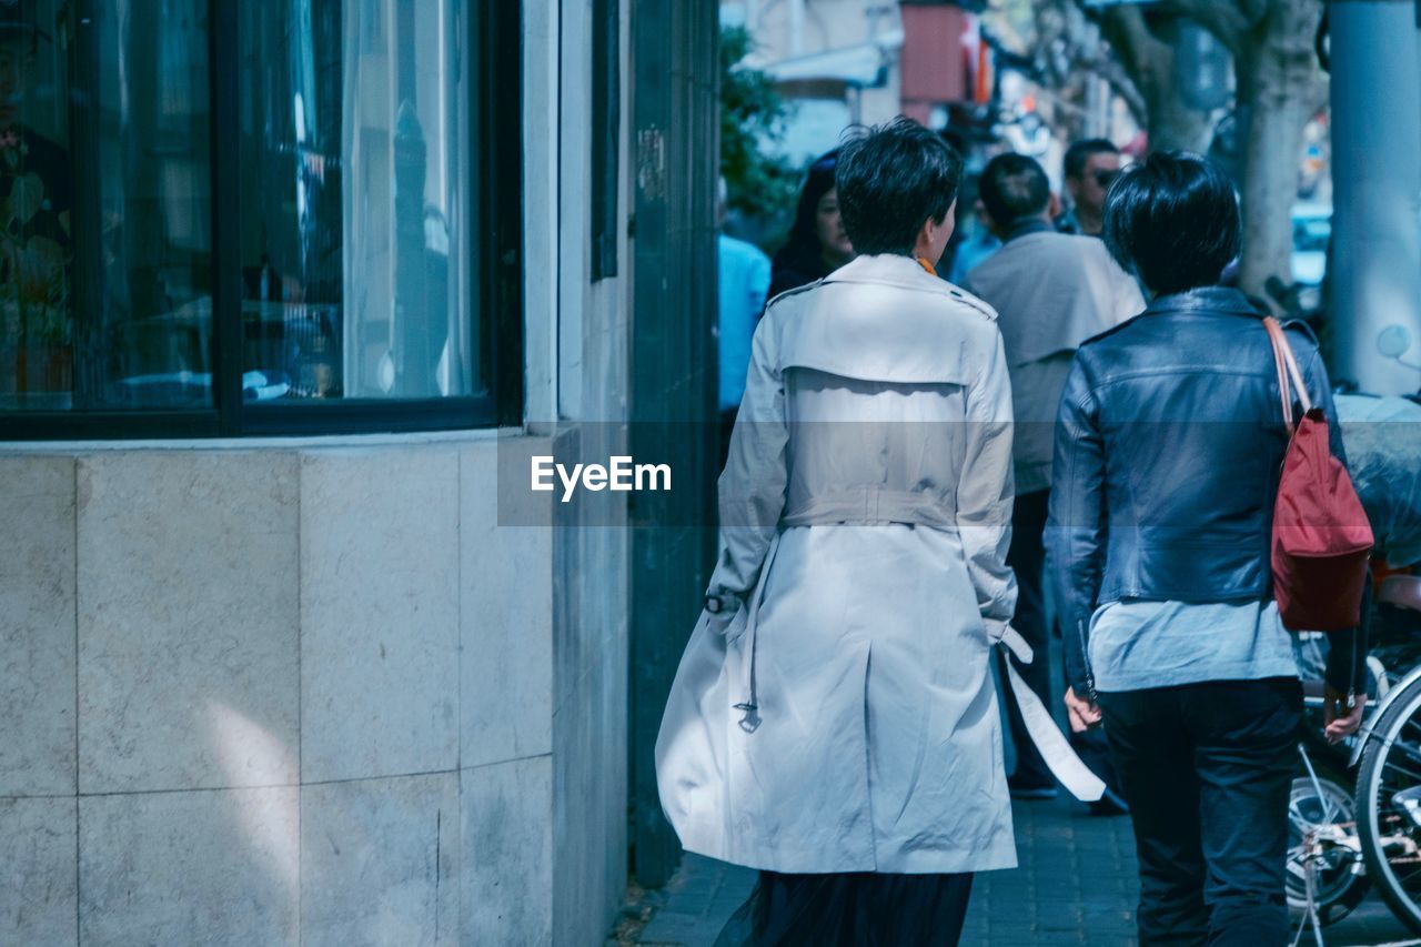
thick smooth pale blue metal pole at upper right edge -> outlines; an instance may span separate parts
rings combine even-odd
[[[1418,0],[1329,3],[1334,374],[1363,391],[1421,388],[1421,28]],[[1390,327],[1400,327],[1397,328]],[[1390,330],[1390,331],[1388,331]],[[1395,357],[1383,333],[1410,340]]]

